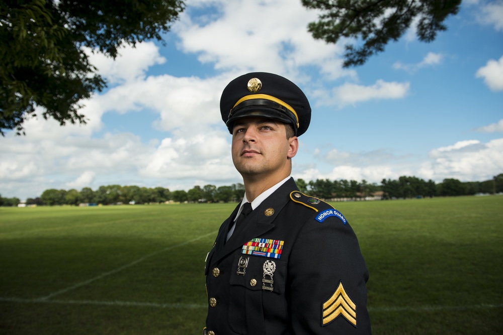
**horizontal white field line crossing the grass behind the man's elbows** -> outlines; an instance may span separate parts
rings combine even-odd
[[[207,304],[197,303],[158,303],[158,302],[134,302],[134,301],[96,301],[96,300],[44,300],[44,299],[23,299],[23,298],[2,298],[1,302],[18,302],[18,303],[49,303],[49,304],[65,304],[65,305],[108,305],[122,307],[156,307],[156,308],[207,308]],[[473,309],[492,309],[503,308],[503,304],[477,304],[467,306],[401,306],[401,307],[372,307],[369,306],[370,312],[431,312],[431,311],[453,311],[453,310],[473,310]]]

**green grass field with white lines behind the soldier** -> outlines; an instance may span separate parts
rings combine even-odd
[[[0,208],[0,334],[201,334],[235,204]],[[503,333],[503,196],[344,202],[374,334]]]

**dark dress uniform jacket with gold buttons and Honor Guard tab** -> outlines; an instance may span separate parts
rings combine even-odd
[[[290,178],[246,216],[243,230],[227,243],[239,206],[223,222],[206,260],[205,333],[371,333],[369,275],[353,229],[344,217],[321,218],[320,213],[333,208],[297,190]],[[266,215],[271,208],[274,213]],[[243,255],[243,245],[254,238],[283,241],[280,258]],[[249,257],[244,275],[237,273],[242,256]],[[276,266],[272,291],[262,289],[268,260]]]

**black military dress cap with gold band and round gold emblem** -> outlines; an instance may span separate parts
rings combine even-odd
[[[251,72],[232,80],[220,98],[222,120],[232,134],[241,118],[271,118],[292,124],[295,135],[305,133],[311,107],[302,90],[290,80],[273,73]]]

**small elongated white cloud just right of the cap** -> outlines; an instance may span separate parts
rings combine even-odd
[[[333,89],[331,98],[321,101],[323,104],[339,104],[345,106],[373,99],[400,99],[409,91],[410,83],[385,82],[377,80],[372,86],[345,83]]]

